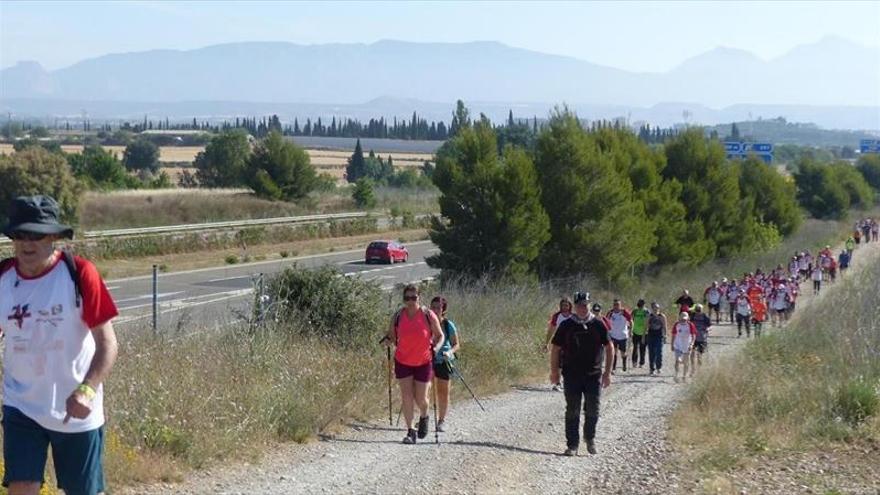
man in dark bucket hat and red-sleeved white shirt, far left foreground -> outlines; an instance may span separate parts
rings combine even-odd
[[[105,490],[104,387],[117,356],[119,313],[91,262],[58,250],[73,238],[48,196],[21,196],[3,234],[14,257],[0,262],[3,356],[3,484],[36,494],[52,448],[58,487]]]

